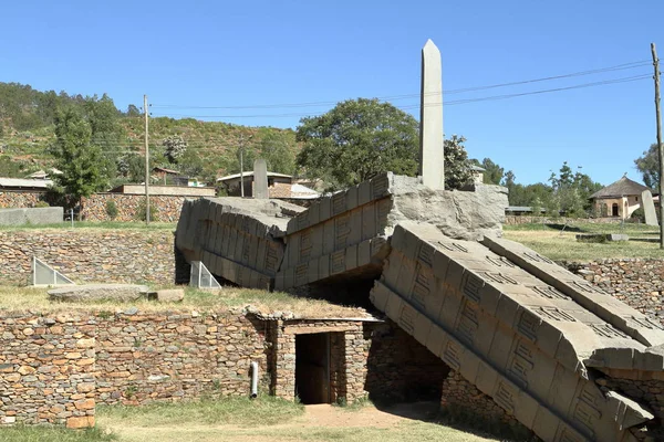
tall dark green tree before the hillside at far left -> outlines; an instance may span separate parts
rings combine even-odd
[[[102,190],[107,182],[103,168],[104,156],[91,140],[90,124],[74,109],[68,107],[55,115],[55,143],[51,152],[62,175],[53,176],[53,180],[63,193],[70,194],[76,202],[82,197]]]

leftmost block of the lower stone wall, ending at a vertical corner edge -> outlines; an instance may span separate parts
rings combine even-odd
[[[0,424],[94,425],[94,317],[0,313]]]

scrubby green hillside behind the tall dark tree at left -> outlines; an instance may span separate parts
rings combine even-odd
[[[69,95],[65,92],[40,92],[29,85],[0,83],[0,177],[22,178],[39,169],[52,167],[54,158],[49,152],[55,140],[56,109],[70,106],[82,114],[94,113],[95,106],[111,105],[104,114],[115,127],[116,141],[102,146],[104,154],[115,161],[144,158],[144,118],[133,105],[126,112],[115,107],[105,94],[98,98]],[[112,122],[111,122],[112,120]],[[187,150],[177,164],[164,156],[163,140],[180,136]],[[294,172],[294,156],[299,149],[294,131],[271,127],[247,127],[219,122],[200,122],[193,118],[149,119],[149,148],[152,166],[180,170],[184,175],[212,181],[215,177],[239,171],[238,147],[245,139],[245,169],[261,156],[269,168],[282,173]],[[131,161],[128,161],[131,162]],[[127,168],[131,168],[128,166]],[[131,180],[122,173],[112,183]]]

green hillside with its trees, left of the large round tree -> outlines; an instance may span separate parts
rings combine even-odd
[[[90,170],[85,187],[107,190],[124,182],[142,182],[143,124],[135,105],[122,112],[106,94],[69,95],[0,83],[0,176],[22,178],[39,168],[66,166],[65,150],[73,145],[65,143],[63,134],[71,131],[81,137],[76,156],[89,158],[82,157],[70,168],[95,164],[98,169],[98,173]],[[294,173],[297,141],[292,130],[168,117],[151,118],[151,168],[176,169],[214,185],[220,173],[239,172],[238,136],[250,140],[243,149],[246,170],[251,169],[253,159],[262,157],[270,170]],[[97,176],[98,180],[92,179]]]

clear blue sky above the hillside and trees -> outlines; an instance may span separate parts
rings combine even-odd
[[[3,4],[0,17],[2,82],[108,93],[123,109],[147,94],[154,116],[292,128],[342,99],[417,94],[427,39],[443,54],[446,91],[649,62],[651,42],[664,54],[661,0],[24,0]],[[643,64],[445,101],[649,74]],[[563,161],[604,185],[624,172],[640,180],[633,160],[655,141],[653,90],[649,76],[446,105],[445,133],[464,135],[471,157],[491,158],[522,183],[547,180]],[[324,104],[195,107],[303,103]],[[416,96],[392,103],[418,115]]]

